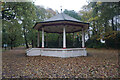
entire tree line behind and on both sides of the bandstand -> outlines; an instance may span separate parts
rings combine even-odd
[[[92,2],[83,6],[79,12],[66,9],[64,13],[90,23],[86,31],[86,37],[88,37],[85,42],[86,47],[120,48],[119,4],[118,2]],[[33,26],[36,22],[44,21],[56,14],[58,11],[36,6],[33,2],[3,2],[2,47],[11,49],[17,46],[37,47],[38,31],[34,30]],[[68,47],[81,47],[80,33],[67,34]],[[45,47],[62,47],[61,38],[60,34],[45,33]],[[105,43],[101,43],[101,40]]]

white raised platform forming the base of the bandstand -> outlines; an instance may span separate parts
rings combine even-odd
[[[53,57],[77,57],[87,56],[86,48],[30,48],[26,50],[27,56],[53,56]]]

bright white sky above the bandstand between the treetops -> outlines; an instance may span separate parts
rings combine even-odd
[[[35,0],[35,5],[44,6],[45,8],[52,8],[58,12],[64,9],[74,10],[78,12],[83,5],[86,5],[87,0]]]

